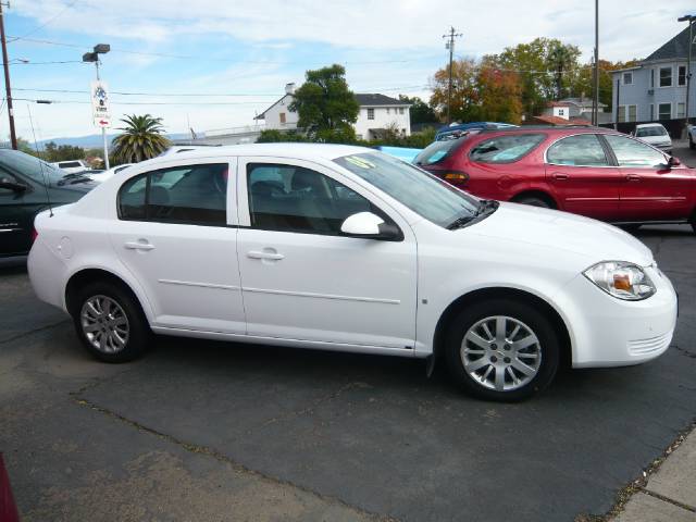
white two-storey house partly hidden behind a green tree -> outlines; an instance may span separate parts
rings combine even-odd
[[[291,130],[297,128],[298,115],[289,110],[295,84],[285,86],[285,95],[254,120],[263,120],[264,128]],[[356,95],[360,112],[353,127],[360,139],[377,139],[386,129],[396,129],[402,136],[411,135],[411,105],[384,95]]]

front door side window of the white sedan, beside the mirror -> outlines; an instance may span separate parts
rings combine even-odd
[[[355,190],[302,166],[249,163],[247,187],[254,228],[341,235],[343,222],[359,212],[390,221]]]

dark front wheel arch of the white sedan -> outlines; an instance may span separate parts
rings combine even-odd
[[[558,310],[544,298],[530,291],[512,287],[478,288],[459,296],[450,302],[440,314],[437,325],[435,326],[431,366],[433,366],[436,361],[439,361],[443,356],[447,328],[457,313],[467,307],[475,306],[476,302],[480,302],[483,299],[495,298],[507,298],[523,301],[525,303],[534,303],[543,310],[545,315],[551,320],[554,330],[561,343],[560,364],[562,368],[571,368],[573,361],[573,347],[571,332],[566,320],[561,316]],[[432,368],[430,368],[430,371],[432,371]]]

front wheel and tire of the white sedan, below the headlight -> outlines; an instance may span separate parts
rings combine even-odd
[[[447,365],[468,393],[487,400],[523,400],[546,388],[559,365],[551,323],[532,306],[490,299],[459,312],[446,336]]]

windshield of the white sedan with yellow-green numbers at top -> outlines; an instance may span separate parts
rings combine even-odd
[[[351,154],[334,162],[439,226],[473,219],[478,210],[476,198],[386,154]]]

